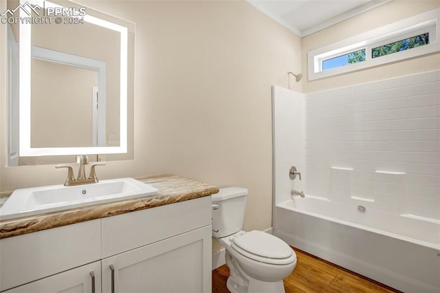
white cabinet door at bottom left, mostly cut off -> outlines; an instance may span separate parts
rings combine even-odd
[[[91,272],[94,274],[92,277]],[[100,293],[101,262],[96,261],[66,272],[48,276],[3,293]]]

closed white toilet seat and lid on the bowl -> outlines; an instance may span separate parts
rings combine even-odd
[[[296,261],[296,254],[283,240],[261,231],[250,231],[232,239],[231,248],[245,257],[274,265]]]

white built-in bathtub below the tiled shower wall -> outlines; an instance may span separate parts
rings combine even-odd
[[[366,210],[364,210],[366,208]],[[440,292],[440,221],[296,197],[276,204],[274,234],[404,292]]]

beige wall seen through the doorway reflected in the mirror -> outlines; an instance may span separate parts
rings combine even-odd
[[[31,147],[92,146],[98,72],[35,58],[31,72]]]

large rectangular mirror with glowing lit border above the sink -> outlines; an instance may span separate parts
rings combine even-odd
[[[8,164],[130,153],[134,24],[71,1],[7,6],[47,19],[8,24]]]

